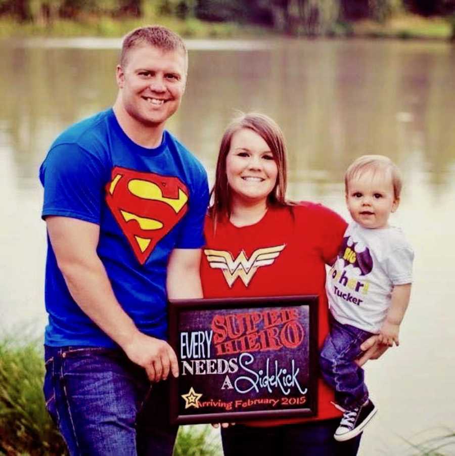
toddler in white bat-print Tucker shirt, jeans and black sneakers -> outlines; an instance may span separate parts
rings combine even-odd
[[[401,191],[400,172],[389,158],[355,160],[346,171],[345,191],[353,221],[327,278],[331,330],[320,358],[323,377],[344,412],[334,435],[338,441],[358,435],[377,411],[355,360],[374,334],[383,344],[399,344],[414,258],[401,230],[388,223]]]

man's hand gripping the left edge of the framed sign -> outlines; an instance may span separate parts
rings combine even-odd
[[[172,347],[161,339],[138,332],[122,347],[128,358],[142,366],[151,382],[166,380],[169,371],[178,377],[178,361]]]

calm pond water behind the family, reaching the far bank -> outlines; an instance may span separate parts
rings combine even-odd
[[[45,226],[38,167],[67,125],[110,106],[119,40],[0,42],[0,328],[45,325]],[[455,428],[455,47],[393,40],[188,41],[187,92],[168,128],[213,180],[218,142],[235,110],[282,126],[289,197],[345,217],[343,174],[365,153],[403,170],[392,222],[415,249],[413,292],[399,348],[367,366],[379,407],[359,454],[413,454]],[[453,283],[452,283],[453,284]],[[445,451],[445,452],[444,452]],[[446,447],[444,454],[455,454]]]

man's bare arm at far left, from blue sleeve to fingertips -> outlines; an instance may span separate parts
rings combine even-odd
[[[71,296],[151,381],[178,376],[174,351],[165,341],[141,333],[115,298],[97,254],[100,227],[70,217],[46,218],[49,238]]]

